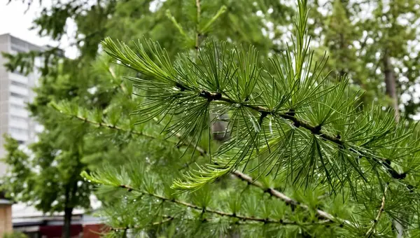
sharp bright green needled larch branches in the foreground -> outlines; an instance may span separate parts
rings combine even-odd
[[[93,175],[84,174],[85,178],[102,184],[105,190],[123,188],[134,193],[130,196],[148,197],[149,207],[162,207],[158,209],[159,214],[153,216],[158,217],[158,221],[142,221],[143,226],[139,228],[175,221],[179,219],[174,215],[178,214],[177,209],[181,213],[188,208],[201,211],[201,215],[182,218],[197,221],[200,216],[201,222],[220,222],[228,226],[269,223],[314,225],[328,230],[333,223],[343,230],[335,234],[337,237],[393,237],[392,219],[398,219],[407,228],[407,235],[414,236],[409,230],[419,228],[420,201],[416,188],[419,165],[415,162],[420,145],[413,133],[414,126],[407,127],[404,121],[396,123],[392,111],[384,112],[375,107],[371,111],[359,111],[360,94],[348,93],[346,78],[338,78],[335,83],[328,75],[321,74],[325,60],[313,63],[313,52],[309,50],[306,37],[307,13],[306,2],[299,1],[293,51],[286,50],[265,64],[260,64],[254,48],[244,50],[214,41],[208,41],[200,49],[197,60],[190,55],[180,55],[172,64],[158,43],[139,42],[136,50],[132,50],[106,38],[104,50],[120,64],[139,73],[136,78],[128,78],[146,98],[134,111],[142,116],[138,123],[165,120],[167,124],[162,131],[167,137],[176,137],[178,145],[193,147],[207,156],[198,144],[204,134],[210,137],[210,115],[215,114],[217,118],[228,113],[225,134],[230,139],[210,153],[207,165],[198,165],[172,183],[176,190],[195,191],[193,195],[174,195],[174,190],[160,181],[150,181],[156,177],[146,171],[146,165],[121,170],[108,167]],[[116,127],[114,124],[112,126]],[[325,211],[311,205],[290,202],[277,190],[269,190],[270,186],[258,185],[256,187],[265,187],[265,192],[279,198],[261,202],[258,216],[254,216],[257,208],[251,205],[241,208],[239,198],[230,200],[229,211],[224,210],[226,207],[209,209],[210,199],[202,197],[210,196],[210,183],[228,173],[248,184],[253,182],[241,178],[244,175],[238,174],[238,169],[258,178],[281,179],[289,188],[304,188],[304,195],[326,188],[330,190],[328,196],[332,201],[351,204],[360,214],[351,214],[351,218],[346,217],[351,221],[346,221],[324,214]],[[160,190],[160,186],[163,189]],[[185,202],[187,196],[193,196],[193,202]],[[200,200],[194,198],[200,196]],[[250,196],[249,200],[258,198]],[[285,219],[285,214],[290,215],[284,210],[285,202],[293,207],[290,214],[297,213],[295,207],[298,207],[314,210],[318,216],[314,219],[312,214],[302,214],[297,223],[295,217]],[[129,207],[122,203],[118,206]],[[165,210],[166,203],[174,207]],[[245,204],[258,205],[258,202]],[[147,208],[141,206],[140,211]],[[271,213],[270,209],[278,211]],[[136,216],[128,210],[125,213]],[[211,214],[211,218],[204,218],[204,213]],[[404,218],[400,214],[405,214]],[[307,219],[310,224],[305,223]],[[136,229],[131,224],[128,228]],[[276,226],[269,227],[270,232],[276,229],[279,230]],[[272,237],[274,233],[265,235]],[[287,236],[281,232],[275,235]]]

